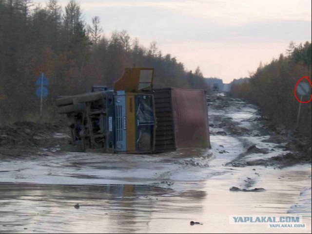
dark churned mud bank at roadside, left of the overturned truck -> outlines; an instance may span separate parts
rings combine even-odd
[[[0,127],[0,159],[54,153],[70,139],[65,122],[16,122]]]

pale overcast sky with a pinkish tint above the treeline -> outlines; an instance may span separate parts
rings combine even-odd
[[[33,0],[47,2],[47,0]],[[59,0],[65,6],[69,0]],[[291,41],[311,42],[311,0],[76,0],[85,21],[95,16],[105,36],[127,30],[142,45],[156,41],[187,70],[224,83],[249,76],[285,53]],[[44,4],[43,4],[44,6]]]

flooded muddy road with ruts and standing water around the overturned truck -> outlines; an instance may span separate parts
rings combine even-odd
[[[64,152],[56,128],[40,148],[0,144],[0,233],[311,233],[311,159],[251,104],[219,95],[208,109],[211,149]],[[304,227],[230,223],[286,215]]]

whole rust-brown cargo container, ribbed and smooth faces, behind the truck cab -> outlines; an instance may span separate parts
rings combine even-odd
[[[154,94],[156,152],[210,147],[205,90],[163,88]]]

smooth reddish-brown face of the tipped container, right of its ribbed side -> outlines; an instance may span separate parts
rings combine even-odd
[[[176,148],[210,147],[205,90],[171,89]]]

